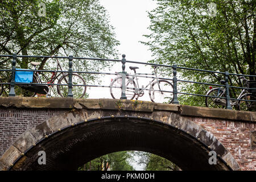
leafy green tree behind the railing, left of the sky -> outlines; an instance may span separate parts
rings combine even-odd
[[[39,0],[0,0],[0,54],[116,57],[114,28],[98,0],[48,0],[46,16],[39,16]],[[55,69],[48,58],[17,60],[18,68],[39,61],[39,69]],[[68,60],[61,64],[67,70]],[[97,66],[95,66],[97,65]],[[73,60],[74,71],[97,72],[110,67],[105,61]],[[10,59],[0,57],[0,68],[10,68]],[[94,82],[95,75],[84,75]]]

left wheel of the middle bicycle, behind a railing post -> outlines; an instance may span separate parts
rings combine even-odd
[[[112,87],[115,86],[115,87]],[[125,89],[125,96],[127,97],[127,100],[133,100],[135,97],[135,88],[137,88],[134,80],[129,80],[129,78],[126,79],[126,87],[129,87],[130,89]],[[133,89],[134,88],[134,89]],[[122,96],[122,77],[116,77],[115,80],[113,80],[110,84],[110,94],[112,98],[114,99],[120,99]]]

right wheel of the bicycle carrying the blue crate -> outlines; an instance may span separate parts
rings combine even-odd
[[[57,92],[61,97],[67,97],[68,96],[68,75],[64,75],[60,78],[57,85]],[[85,95],[86,92],[86,86],[76,86],[76,85],[85,85],[84,79],[77,75],[72,74],[72,92],[73,92],[73,98],[82,98]]]

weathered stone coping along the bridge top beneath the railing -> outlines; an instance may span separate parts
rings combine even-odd
[[[256,112],[196,107],[188,105],[159,104],[148,101],[100,99],[73,99],[59,97],[0,97],[0,107],[34,109],[110,109],[152,112],[166,110],[193,117],[232,119],[256,122]]]

